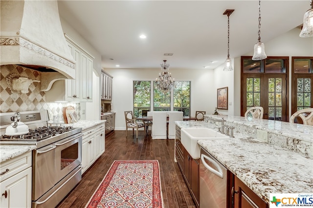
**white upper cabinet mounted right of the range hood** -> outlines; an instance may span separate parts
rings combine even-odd
[[[76,61],[74,80],[59,80],[46,91],[46,102],[92,102],[92,68],[94,57],[65,34],[68,48]]]

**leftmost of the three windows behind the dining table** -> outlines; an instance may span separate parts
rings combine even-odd
[[[134,116],[142,116],[142,110],[150,110],[151,82],[134,81]]]

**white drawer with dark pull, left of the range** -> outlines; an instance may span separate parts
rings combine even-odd
[[[0,164],[0,182],[31,166],[32,152],[4,161]]]

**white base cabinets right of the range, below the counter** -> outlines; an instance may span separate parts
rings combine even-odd
[[[82,173],[84,173],[105,150],[105,125],[96,125],[83,131]]]

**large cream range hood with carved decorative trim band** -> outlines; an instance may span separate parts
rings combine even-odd
[[[41,71],[41,90],[75,77],[56,0],[1,0],[0,64]]]

